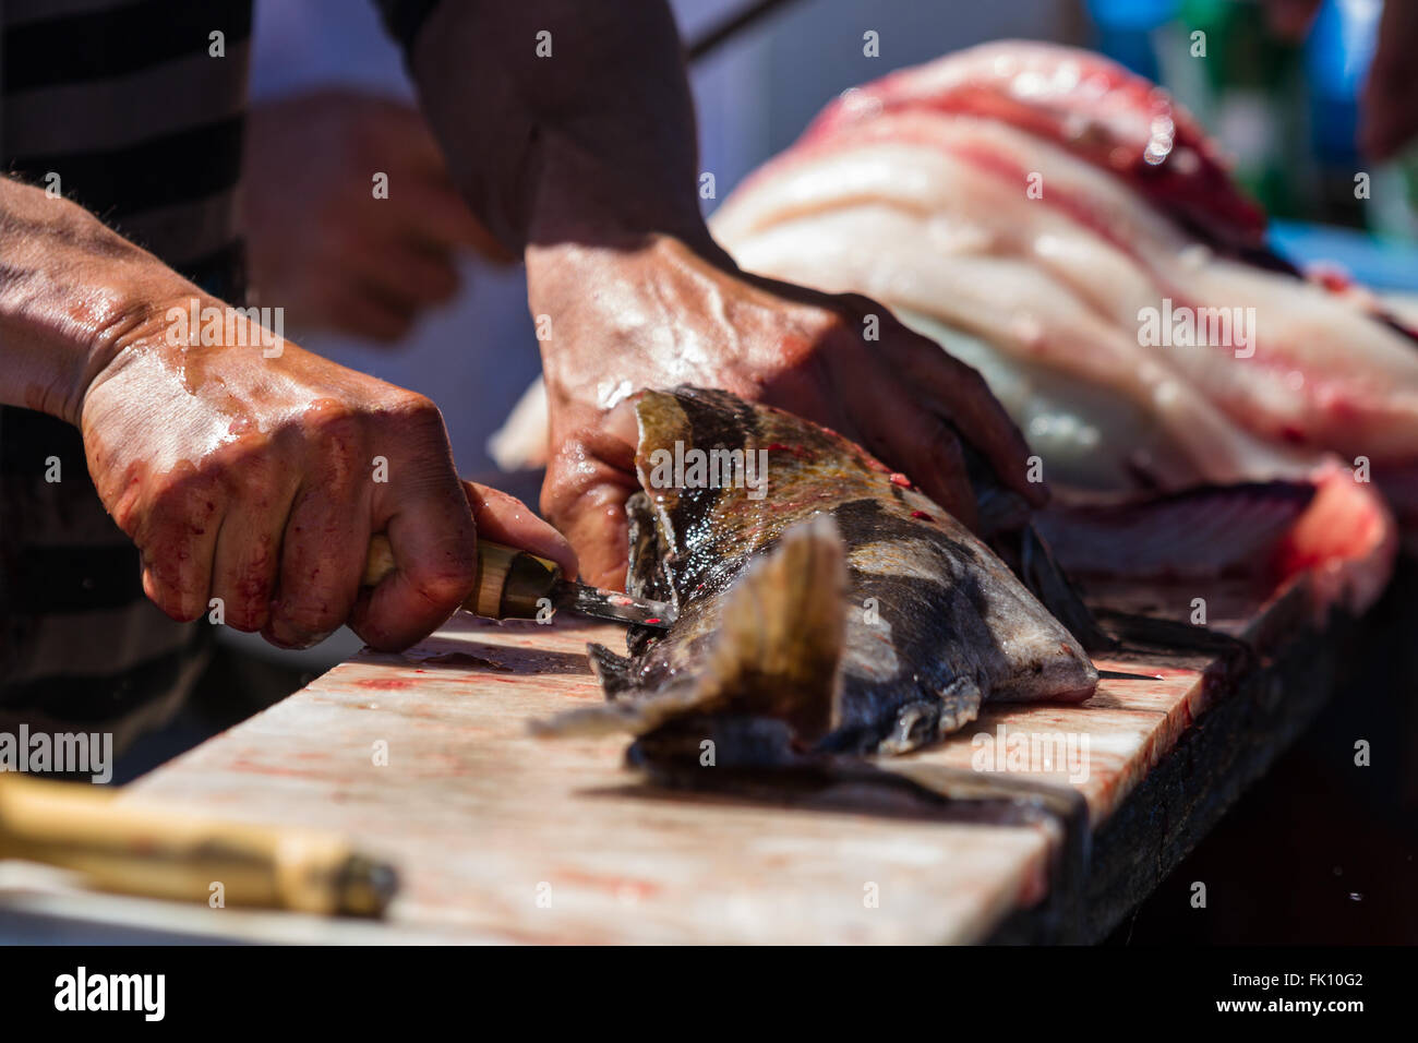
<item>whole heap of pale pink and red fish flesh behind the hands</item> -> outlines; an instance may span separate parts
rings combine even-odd
[[[1412,316],[1268,257],[1204,129],[1106,58],[1004,41],[852,88],[710,230],[978,369],[1055,492],[1035,529],[1065,572],[1303,576],[1317,614],[1361,613],[1395,509],[1418,549]]]

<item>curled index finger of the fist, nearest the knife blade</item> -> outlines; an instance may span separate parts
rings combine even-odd
[[[394,572],[362,593],[350,620],[354,633],[386,651],[432,633],[472,593],[478,570],[476,529],[454,473],[442,417],[430,403],[408,426],[414,437],[407,444],[421,451],[389,457],[389,481],[374,485],[372,512],[372,531],[389,536]],[[430,453],[438,440],[441,454]]]

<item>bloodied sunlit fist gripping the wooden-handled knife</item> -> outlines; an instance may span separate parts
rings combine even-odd
[[[82,431],[104,505],[142,551],[143,589],[169,616],[197,619],[217,597],[225,623],[278,646],[349,623],[397,650],[468,596],[478,529],[574,575],[550,526],[459,482],[428,399],[291,343],[265,358],[241,316],[234,331],[250,346],[173,343],[167,307],[190,298],[146,308],[106,345]],[[362,589],[376,532],[397,570]]]

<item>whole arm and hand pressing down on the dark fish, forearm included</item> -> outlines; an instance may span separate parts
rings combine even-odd
[[[525,251],[532,314],[550,319],[542,502],[586,576],[611,585],[624,570],[634,427],[611,407],[638,387],[688,382],[801,413],[970,521],[953,424],[1003,481],[1041,497],[974,370],[885,308],[750,278],[713,244],[679,55],[664,0],[442,3],[411,54],[454,182],[498,241]]]

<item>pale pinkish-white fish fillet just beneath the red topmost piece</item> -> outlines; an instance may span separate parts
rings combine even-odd
[[[1211,250],[1011,125],[930,111],[852,125],[770,160],[710,227],[747,271],[866,294],[1005,365],[1106,390],[1188,477],[1283,478],[1317,451],[1418,460],[1409,336],[1351,295]]]

